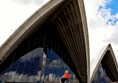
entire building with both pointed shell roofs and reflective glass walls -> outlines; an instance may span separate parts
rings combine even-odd
[[[0,82],[59,83],[65,70],[72,83],[117,81],[110,45],[91,67],[88,35],[83,0],[49,1],[1,46]]]

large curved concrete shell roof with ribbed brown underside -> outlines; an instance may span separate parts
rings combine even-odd
[[[88,83],[89,41],[83,0],[51,0],[44,5],[2,45],[0,66],[37,27],[40,28],[47,22],[58,30],[74,63],[79,81]],[[67,64],[70,63],[71,61]],[[8,62],[7,64],[9,65]]]

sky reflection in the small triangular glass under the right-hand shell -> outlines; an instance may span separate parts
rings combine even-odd
[[[106,75],[104,68],[100,64],[98,70],[93,78],[92,83],[111,83],[111,80]]]

